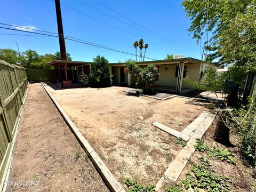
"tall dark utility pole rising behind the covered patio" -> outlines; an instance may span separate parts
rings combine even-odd
[[[61,60],[67,61],[67,52],[65,45],[65,38],[63,33],[61,10],[60,10],[60,0],[55,0],[57,23],[58,23],[58,33],[59,33],[59,42],[60,42],[60,57]]]

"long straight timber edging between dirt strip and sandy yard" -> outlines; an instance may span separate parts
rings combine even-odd
[[[41,82],[41,84],[44,87],[44,90],[49,95],[50,99],[60,112],[60,115],[63,117],[67,125],[69,126],[70,130],[74,133],[76,139],[80,143],[80,145],[83,147],[83,149],[88,154],[89,158],[91,159],[94,167],[97,169],[99,174],[101,175],[101,178],[106,183],[110,191],[115,192],[125,192],[123,187],[120,185],[120,183],[116,180],[114,175],[109,171],[108,167],[103,163],[99,155],[94,151],[90,143],[84,138],[82,133],[77,129],[76,125],[71,121],[71,119],[68,117],[68,115],[65,113],[65,111],[61,108],[59,103],[55,100],[55,98],[52,96],[52,94],[46,89],[45,85]]]

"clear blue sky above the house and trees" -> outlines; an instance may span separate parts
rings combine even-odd
[[[97,1],[124,15],[129,20]],[[190,21],[183,11],[181,2],[170,0],[60,0],[60,3],[66,6],[61,7],[64,35],[131,53],[135,53],[135,49],[132,46],[133,42],[143,38],[144,42],[149,45],[146,57],[164,59],[166,54],[169,53],[200,59],[200,47],[197,45],[196,40],[189,35],[187,29],[190,26]],[[0,22],[54,33],[58,32],[53,1],[0,0],[0,3],[2,5]],[[86,17],[84,14],[116,28]],[[109,17],[107,14],[118,20]],[[128,23],[128,25],[119,20]],[[17,45],[15,44],[15,41],[17,41],[20,51],[31,49],[40,54],[59,51],[59,41],[56,37],[3,34],[30,35],[19,31],[0,29],[0,48],[17,50]],[[73,60],[77,61],[92,61],[96,55],[104,56],[109,62],[125,61],[130,58],[135,59],[132,55],[104,50],[69,40],[66,41],[66,49]]]

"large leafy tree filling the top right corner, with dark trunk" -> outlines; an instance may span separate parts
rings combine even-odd
[[[189,31],[198,42],[205,33],[206,36],[212,34],[205,43],[205,50],[209,52],[207,60],[219,66],[255,66],[255,0],[183,0],[182,5],[191,21]],[[234,83],[228,97],[231,107],[238,106],[239,87],[235,76],[228,79]]]

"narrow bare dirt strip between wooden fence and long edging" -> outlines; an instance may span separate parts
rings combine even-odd
[[[109,191],[43,86],[30,84],[14,155],[12,191]]]

